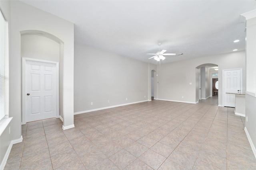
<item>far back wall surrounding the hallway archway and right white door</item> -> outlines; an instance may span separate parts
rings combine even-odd
[[[196,103],[198,101],[196,82],[199,73],[195,68],[205,63],[216,64],[219,67],[219,105],[222,106],[222,70],[242,68],[243,89],[246,88],[245,51],[238,51],[161,64],[161,71],[158,74],[158,99]]]

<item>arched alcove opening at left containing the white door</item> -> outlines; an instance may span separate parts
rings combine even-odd
[[[20,45],[22,57],[22,124],[28,121],[34,121],[59,117],[62,113],[62,54],[63,41],[58,37],[40,30],[20,31]],[[27,68],[30,68],[28,70]],[[32,68],[33,67],[33,68]],[[32,76],[28,76],[28,75]],[[30,79],[28,77],[31,77]],[[31,83],[28,83],[27,80]],[[29,82],[30,82],[29,81]],[[38,88],[36,97],[29,90]],[[43,90],[43,89],[48,90]],[[40,89],[40,90],[39,90]],[[50,90],[49,90],[50,89]],[[46,94],[52,91],[52,94]],[[40,92],[40,95],[39,95]],[[43,97],[42,97],[43,96]],[[32,100],[33,99],[33,100]],[[40,102],[40,101],[44,102]],[[37,105],[35,104],[37,102]],[[33,103],[33,109],[30,109],[30,103]],[[42,110],[44,108],[44,110]],[[28,111],[36,112],[33,120],[28,119]],[[50,114],[51,113],[51,114]],[[48,115],[47,117],[41,115]]]

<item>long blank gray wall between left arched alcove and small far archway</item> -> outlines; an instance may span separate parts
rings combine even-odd
[[[148,63],[75,44],[75,114],[148,100],[148,76]]]

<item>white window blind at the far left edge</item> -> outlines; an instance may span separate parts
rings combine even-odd
[[[8,22],[0,12],[0,120],[9,113]]]

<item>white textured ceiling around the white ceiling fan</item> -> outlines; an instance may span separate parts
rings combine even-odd
[[[22,0],[74,23],[75,43],[148,60],[160,50],[183,53],[161,63],[232,53],[245,49],[240,14],[255,0]],[[239,39],[238,43],[233,41]]]

